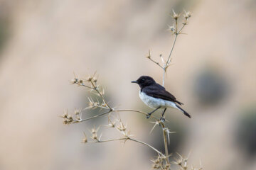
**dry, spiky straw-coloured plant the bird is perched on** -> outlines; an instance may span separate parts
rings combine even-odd
[[[173,11],[173,14],[171,16],[172,16],[172,18],[174,18],[174,26],[169,26],[168,30],[175,37],[174,37],[174,43],[171,47],[171,52],[170,52],[169,56],[167,57],[167,60],[164,60],[164,57],[162,55],[160,55],[162,64],[159,64],[159,62],[156,62],[155,60],[153,60],[151,58],[150,51],[149,51],[149,55],[146,57],[149,60],[151,60],[151,62],[154,62],[159,67],[161,67],[161,69],[163,69],[163,86],[164,86],[164,80],[166,77],[166,71],[171,64],[171,54],[174,50],[174,46],[176,44],[176,39],[177,39],[178,35],[182,34],[181,31],[188,24],[188,18],[191,17],[191,13],[187,12],[187,11],[183,12],[183,22],[182,23],[178,22],[178,19],[181,16],[180,13],[175,13]],[[180,26],[180,24],[182,24],[182,25]],[[166,128],[164,119],[160,120],[159,118],[156,118],[154,115],[151,115],[151,119],[153,119],[154,121],[150,122],[150,123],[154,123],[154,126],[151,129],[151,132],[156,127],[160,127],[163,132],[165,152],[162,153],[158,149],[147,144],[146,142],[142,142],[142,141],[134,138],[133,135],[131,135],[129,130],[127,129],[127,125],[124,125],[123,121],[121,120],[121,118],[118,114],[118,113],[122,113],[122,112],[136,112],[136,113],[140,113],[143,115],[148,115],[148,113],[145,113],[143,111],[134,110],[134,109],[117,109],[117,108],[110,106],[110,104],[105,99],[104,89],[97,82],[98,82],[97,76],[95,74],[88,77],[87,79],[80,79],[79,77],[75,76],[74,79],[70,81],[70,83],[78,84],[78,86],[83,86],[83,87],[89,89],[92,94],[97,95],[97,98],[93,99],[92,97],[89,97],[88,98],[89,104],[88,104],[87,108],[75,109],[74,113],[72,113],[71,115],[68,113],[68,111],[66,111],[64,113],[64,115],[61,116],[63,118],[63,123],[65,125],[67,125],[67,124],[73,124],[73,123],[82,123],[87,120],[92,120],[92,119],[107,115],[107,121],[108,121],[107,125],[100,125],[97,128],[95,128],[95,127],[92,128],[90,130],[90,139],[87,138],[87,134],[84,132],[84,138],[82,139],[82,143],[101,143],[101,142],[111,142],[111,141],[116,141],[116,140],[119,140],[119,141],[122,141],[125,143],[125,142],[127,142],[127,140],[130,140],[130,141],[145,145],[146,147],[149,147],[152,150],[154,150],[154,152],[156,152],[156,154],[157,154],[156,159],[152,160],[152,162],[153,162],[152,169],[166,169],[166,170],[171,169],[171,164],[176,164],[179,169],[183,169],[183,170],[188,169],[188,164],[187,164],[188,158],[183,158],[180,154],[178,154],[179,159],[175,159],[176,160],[175,162],[170,162],[170,160],[169,160],[169,157],[171,156],[171,154],[168,153],[169,135],[173,132],[171,132],[171,130],[169,130],[169,128]],[[100,113],[98,113],[97,115],[94,115],[90,118],[82,118],[83,117],[82,113],[84,111],[86,111],[87,109],[95,109],[95,108],[100,108],[100,111],[99,111]],[[117,132],[119,132],[119,134],[120,134],[120,137],[103,140],[102,134],[99,135],[99,133],[98,133],[100,128],[103,128],[103,127],[104,128],[112,128],[114,130],[117,130]],[[200,170],[201,169],[202,168],[200,168]],[[196,170],[196,169],[191,166],[191,170]]]

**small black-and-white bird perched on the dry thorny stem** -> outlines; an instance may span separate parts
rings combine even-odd
[[[191,115],[189,115],[181,108],[183,103],[177,101],[174,95],[166,91],[164,86],[157,84],[152,77],[142,76],[139,77],[139,79],[136,81],[132,81],[132,83],[139,84],[139,98],[142,99],[146,106],[154,108],[154,111],[148,113],[146,118],[150,118],[150,115],[157,111],[159,108],[164,109],[160,118],[162,121],[164,121],[164,113],[167,108],[176,108],[184,115],[188,116],[188,118],[191,118]]]

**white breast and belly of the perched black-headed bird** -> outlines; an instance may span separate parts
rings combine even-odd
[[[139,98],[141,98],[142,101],[151,108],[177,108],[176,104],[172,101],[166,101],[161,98],[154,98],[146,95],[142,91],[139,91]]]

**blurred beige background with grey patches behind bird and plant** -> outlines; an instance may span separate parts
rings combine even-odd
[[[107,118],[63,125],[58,115],[87,106],[87,91],[69,80],[95,71],[112,106],[151,111],[130,81],[149,75],[161,83],[146,55],[169,54],[173,8],[193,16],[166,89],[192,119],[167,110],[176,131],[170,152],[191,152],[189,164],[201,160],[208,170],[256,169],[254,0],[1,0],[0,169],[150,169],[155,154],[137,143],[81,143],[83,131]],[[161,131],[149,134],[144,116],[120,116],[135,138],[163,150]]]

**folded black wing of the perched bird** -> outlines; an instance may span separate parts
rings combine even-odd
[[[146,86],[142,89],[142,92],[154,98],[161,98],[166,101],[172,101],[178,103],[179,105],[183,105],[183,103],[177,101],[175,96],[166,91],[165,88],[160,84]]]

